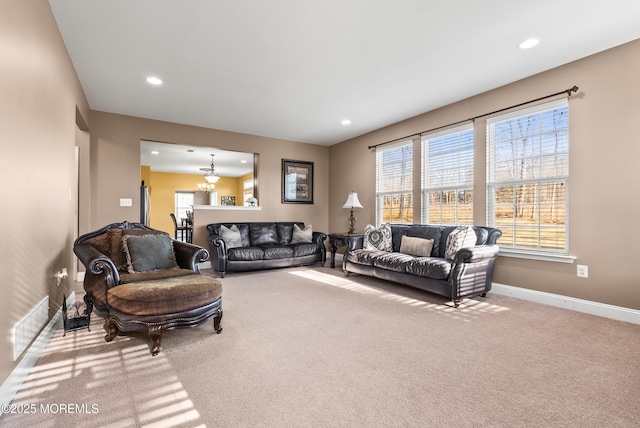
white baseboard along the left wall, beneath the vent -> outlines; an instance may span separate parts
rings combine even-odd
[[[67,297],[67,306],[73,305],[76,300],[76,293],[71,292],[71,295]],[[62,306],[58,309],[56,314],[51,318],[49,323],[42,329],[40,334],[34,339],[33,343],[26,350],[24,357],[15,369],[11,372],[9,377],[0,386],[0,404],[9,404],[15,398],[16,394],[22,387],[22,384],[31,373],[31,369],[35,367],[38,359],[42,356],[42,353],[47,348],[47,345],[53,338],[56,330],[62,322]],[[2,414],[0,413],[0,416]]]

